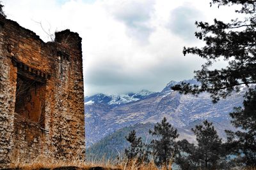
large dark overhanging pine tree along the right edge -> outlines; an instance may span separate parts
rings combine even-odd
[[[183,94],[198,95],[201,92],[209,92],[216,103],[221,97],[225,98],[231,92],[239,92],[239,85],[246,85],[248,92],[245,96],[244,108],[237,108],[231,113],[232,124],[241,127],[244,131],[228,132],[230,148],[235,148],[234,153],[243,153],[243,163],[255,165],[256,143],[256,1],[255,0],[212,0],[212,4],[218,6],[230,6],[238,4],[237,13],[245,15],[243,19],[231,20],[229,23],[215,19],[214,24],[196,22],[196,26],[202,29],[195,32],[198,39],[205,41],[203,48],[184,47],[183,53],[198,55],[207,62],[201,70],[195,71],[196,80],[201,85],[182,83],[172,87]],[[212,64],[222,59],[228,65],[222,69],[210,69]],[[236,139],[238,138],[238,139]]]

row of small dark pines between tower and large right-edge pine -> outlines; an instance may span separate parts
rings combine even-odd
[[[154,159],[157,166],[168,167],[168,164],[175,163],[180,169],[228,169],[231,167],[227,159],[225,144],[221,142],[217,131],[211,122],[205,120],[202,125],[196,125],[191,129],[197,144],[189,143],[186,139],[175,141],[179,134],[169,124],[166,118],[154,125],[152,141],[145,145],[141,138],[136,137],[132,130],[125,139],[129,141],[129,147],[125,149],[125,156],[136,164],[147,164]]]

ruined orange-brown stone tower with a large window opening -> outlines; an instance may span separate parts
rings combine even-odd
[[[38,156],[84,160],[81,38],[44,43],[0,15],[0,167]]]

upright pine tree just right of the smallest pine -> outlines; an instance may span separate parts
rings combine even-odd
[[[150,143],[156,164],[167,167],[177,152],[175,143],[175,139],[179,137],[177,129],[174,129],[164,117],[161,124],[157,123],[153,131],[150,130],[149,133],[156,136],[156,139],[153,139]]]

